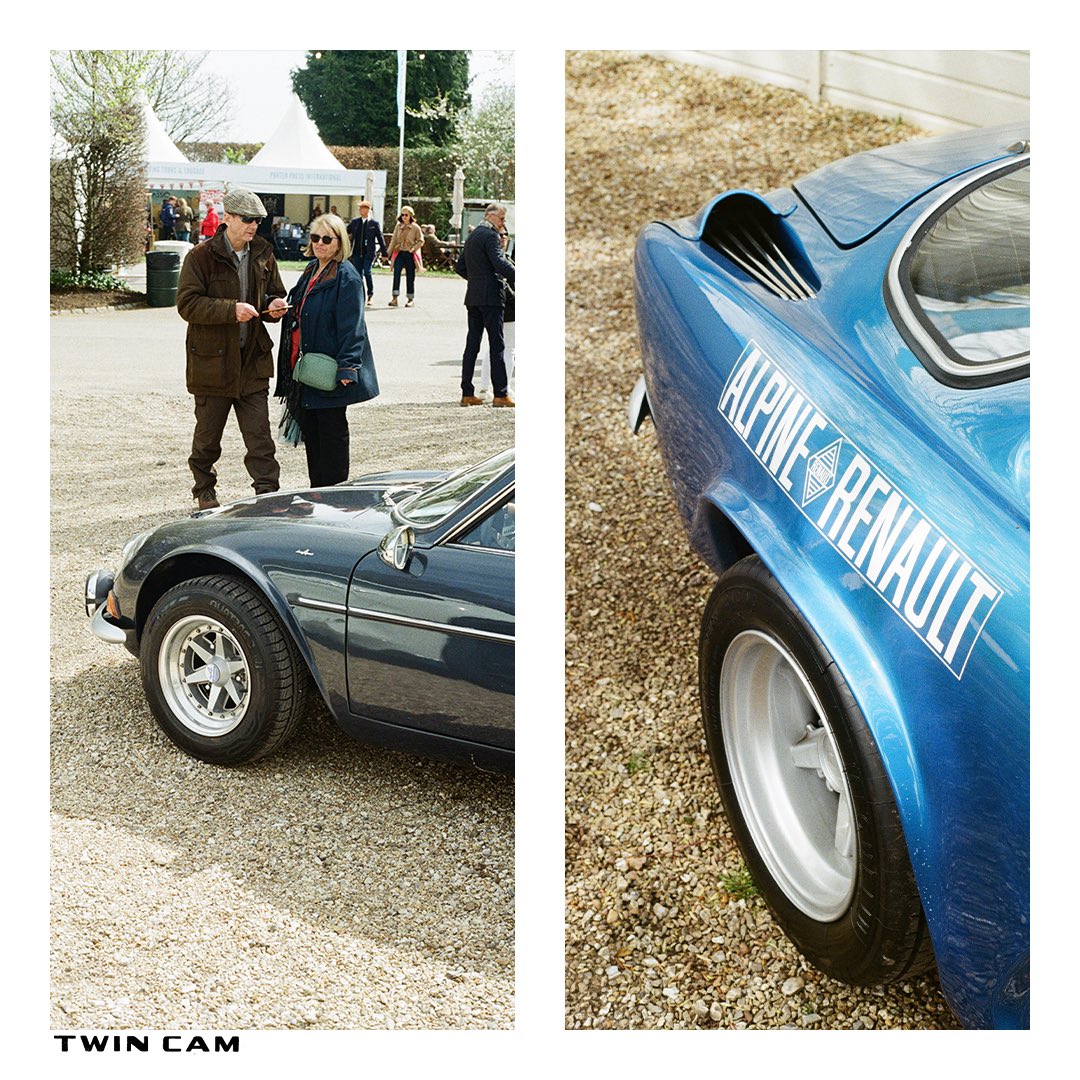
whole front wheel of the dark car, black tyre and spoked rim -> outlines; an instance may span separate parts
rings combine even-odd
[[[282,745],[310,685],[265,598],[225,576],[184,581],[162,595],[147,619],[139,667],[161,729],[212,765],[254,761]]]

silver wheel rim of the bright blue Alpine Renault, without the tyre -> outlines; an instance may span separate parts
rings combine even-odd
[[[744,631],[720,672],[720,727],[754,846],[784,895],[831,922],[855,890],[851,792],[824,710],[775,638]]]

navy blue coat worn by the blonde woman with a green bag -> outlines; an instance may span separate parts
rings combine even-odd
[[[293,305],[282,323],[281,345],[278,347],[278,384],[275,397],[287,394],[289,378],[288,357],[292,352],[296,309],[303,299],[308,282],[319,262],[312,259],[300,280],[288,294]],[[301,408],[341,408],[366,402],[379,393],[375,374],[375,357],[364,324],[364,286],[360,274],[350,262],[334,264],[337,270],[324,276],[308,294],[300,314],[300,352],[324,352],[338,362],[338,378],[347,379],[334,390],[300,388]]]

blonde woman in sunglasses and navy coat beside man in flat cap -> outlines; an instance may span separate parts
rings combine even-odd
[[[274,396],[285,403],[281,429],[294,446],[303,440],[312,487],[349,478],[346,408],[379,392],[364,325],[363,282],[349,262],[349,251],[341,218],[322,214],[311,222],[303,254],[312,259],[288,294],[278,349]],[[338,382],[333,390],[316,390],[293,378],[296,362],[306,352],[326,353],[337,361]]]

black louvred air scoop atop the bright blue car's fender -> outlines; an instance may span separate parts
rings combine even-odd
[[[717,203],[703,239],[783,300],[809,300],[820,288],[787,227],[756,197]]]

